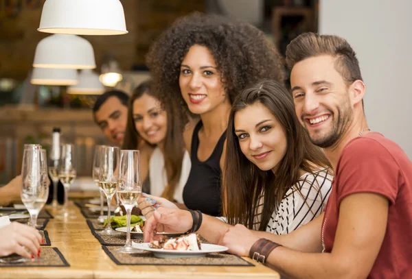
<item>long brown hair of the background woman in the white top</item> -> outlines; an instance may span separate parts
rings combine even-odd
[[[126,125],[126,134],[124,136],[123,149],[139,149],[139,145],[144,142],[144,138],[141,137],[135,127],[135,120],[133,119],[133,103],[143,95],[149,95],[155,99],[158,99],[154,92],[152,92],[152,81],[147,80],[142,82],[130,96],[128,101],[128,116]],[[160,101],[159,101],[160,102]],[[164,140],[163,157],[165,160],[165,169],[168,177],[168,184],[165,186],[161,197],[173,200],[174,192],[179,184],[182,171],[183,155],[185,154],[185,147],[183,142],[183,134],[180,131],[179,119],[176,119],[174,113],[176,108],[170,108],[165,110],[168,115],[168,127],[166,137]],[[151,145],[146,142],[147,145]],[[151,145],[153,146],[153,145]]]

